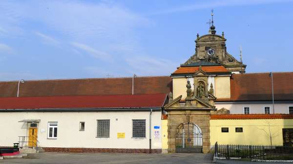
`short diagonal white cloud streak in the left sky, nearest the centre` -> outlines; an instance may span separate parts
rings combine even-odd
[[[82,43],[78,43],[78,42],[72,42],[71,43],[73,46],[75,46],[76,48],[79,48],[81,50],[84,50],[85,52],[87,52],[89,55],[98,58],[98,59],[102,59],[102,60],[108,60],[111,58],[111,55],[103,52],[103,51],[99,51],[96,50],[86,44],[82,44]]]

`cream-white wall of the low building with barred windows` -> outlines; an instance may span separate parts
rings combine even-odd
[[[19,123],[24,119],[41,120],[38,140],[42,147],[149,148],[149,111],[0,112],[0,146],[13,146],[19,141],[18,136],[28,135],[27,123]],[[109,138],[96,138],[96,120],[99,119],[110,119]],[[132,119],[146,119],[146,138],[131,138]],[[161,134],[161,111],[153,111],[151,121],[152,148],[162,148],[162,136],[154,136],[155,130]],[[58,122],[57,139],[47,139],[48,122]],[[84,131],[79,131],[80,122],[85,122]],[[125,132],[125,138],[118,139],[118,132]]]

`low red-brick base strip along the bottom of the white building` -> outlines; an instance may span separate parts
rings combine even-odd
[[[72,147],[42,147],[45,152],[65,153],[149,153],[142,148],[72,148]],[[162,153],[162,149],[151,149],[151,153]]]

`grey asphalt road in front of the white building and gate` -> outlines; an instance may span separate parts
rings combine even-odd
[[[37,153],[0,164],[211,164],[211,154]]]

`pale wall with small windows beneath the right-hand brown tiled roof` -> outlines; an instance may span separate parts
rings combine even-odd
[[[270,113],[272,113],[272,104],[255,104],[255,103],[243,103],[243,104],[232,104],[232,103],[215,103],[217,109],[226,108],[230,110],[230,114],[243,114],[244,107],[250,107],[251,114],[263,114],[265,113],[264,107],[270,107]],[[293,104],[274,104],[275,113],[284,113],[289,114],[289,106],[293,106]]]

